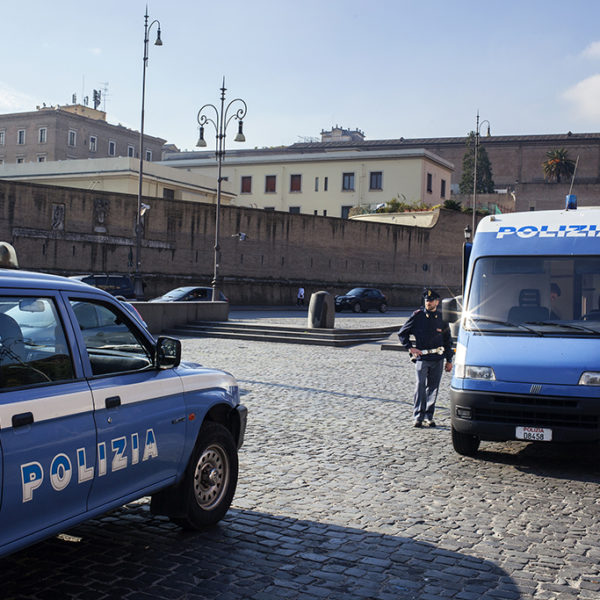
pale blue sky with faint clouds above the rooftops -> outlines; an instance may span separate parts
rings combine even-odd
[[[242,98],[246,142],[339,125],[366,139],[600,132],[595,0],[3,0],[0,113],[105,97],[107,121],[195,150],[197,115]],[[233,108],[233,107],[232,107]],[[228,114],[231,114],[228,113]],[[207,128],[207,149],[214,147]]]

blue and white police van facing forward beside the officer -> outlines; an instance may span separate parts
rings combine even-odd
[[[600,208],[489,216],[468,259],[451,383],[454,449],[600,439]]]

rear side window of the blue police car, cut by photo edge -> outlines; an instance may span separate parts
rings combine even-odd
[[[54,300],[0,297],[0,391],[74,378]]]

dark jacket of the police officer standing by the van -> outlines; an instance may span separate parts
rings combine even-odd
[[[413,347],[411,334],[415,338],[414,347],[419,350],[431,350],[444,347],[444,354],[426,354],[421,360],[440,360],[445,357],[452,362],[452,337],[447,323],[442,321],[442,315],[437,311],[427,311],[425,308],[415,312],[404,323],[398,337],[400,343],[408,350]]]

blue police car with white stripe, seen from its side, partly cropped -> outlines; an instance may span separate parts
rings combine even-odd
[[[229,509],[246,408],[110,294],[0,268],[0,555],[142,496],[201,529]]]

